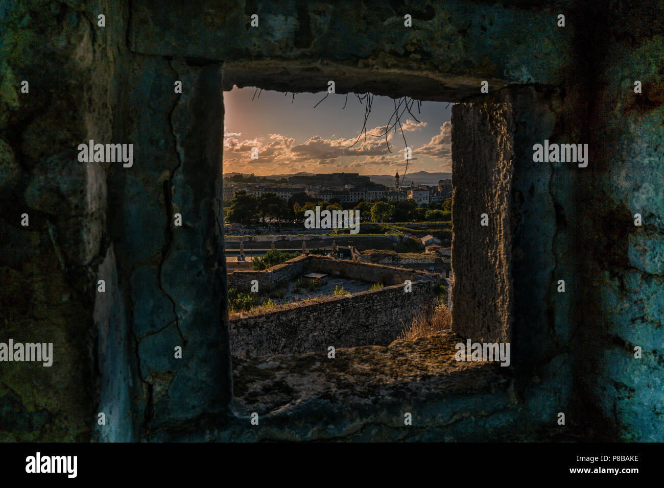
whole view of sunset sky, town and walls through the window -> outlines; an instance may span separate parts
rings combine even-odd
[[[234,354],[388,345],[449,329],[451,109],[372,94],[224,94]],[[368,313],[339,317],[335,297]],[[313,341],[317,327],[325,333]]]

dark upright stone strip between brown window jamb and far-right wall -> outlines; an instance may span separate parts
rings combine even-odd
[[[532,422],[546,424],[566,413],[572,429],[586,419],[576,409],[570,332],[574,293],[558,293],[558,280],[575,282],[578,256],[568,228],[576,212],[569,190],[579,171],[576,163],[533,161],[533,145],[578,141],[576,96],[552,88],[514,88],[504,94],[513,117],[513,177],[509,228],[513,280],[511,351],[517,391]],[[558,183],[560,182],[560,183]],[[557,190],[554,191],[554,190]],[[454,261],[454,258],[453,258]],[[453,262],[454,266],[454,262]],[[454,296],[452,297],[454,299]],[[594,424],[598,424],[598,420]]]

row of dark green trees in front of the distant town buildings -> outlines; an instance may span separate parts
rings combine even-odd
[[[265,193],[254,197],[246,191],[238,191],[230,201],[224,201],[225,218],[228,222],[248,224],[266,218],[278,222],[303,221],[307,210],[316,206],[326,210],[359,210],[365,222],[413,222],[418,220],[449,220],[452,199],[427,206],[418,206],[413,200],[388,202],[380,199],[376,202],[345,203],[339,201],[321,201],[309,197],[306,193],[296,193],[288,201],[275,193]]]

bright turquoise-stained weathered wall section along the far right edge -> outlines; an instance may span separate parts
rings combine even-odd
[[[598,89],[584,134],[595,162],[574,185],[582,229],[576,245],[584,252],[574,285],[584,351],[574,374],[579,394],[620,438],[663,442],[664,5],[620,5],[598,15],[614,29],[588,33],[602,40],[602,52],[590,66]]]

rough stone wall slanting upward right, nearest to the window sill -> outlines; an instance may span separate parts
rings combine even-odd
[[[234,314],[228,321],[231,351],[264,356],[388,345],[416,313],[437,303],[434,282],[423,280],[410,292],[400,284]]]

